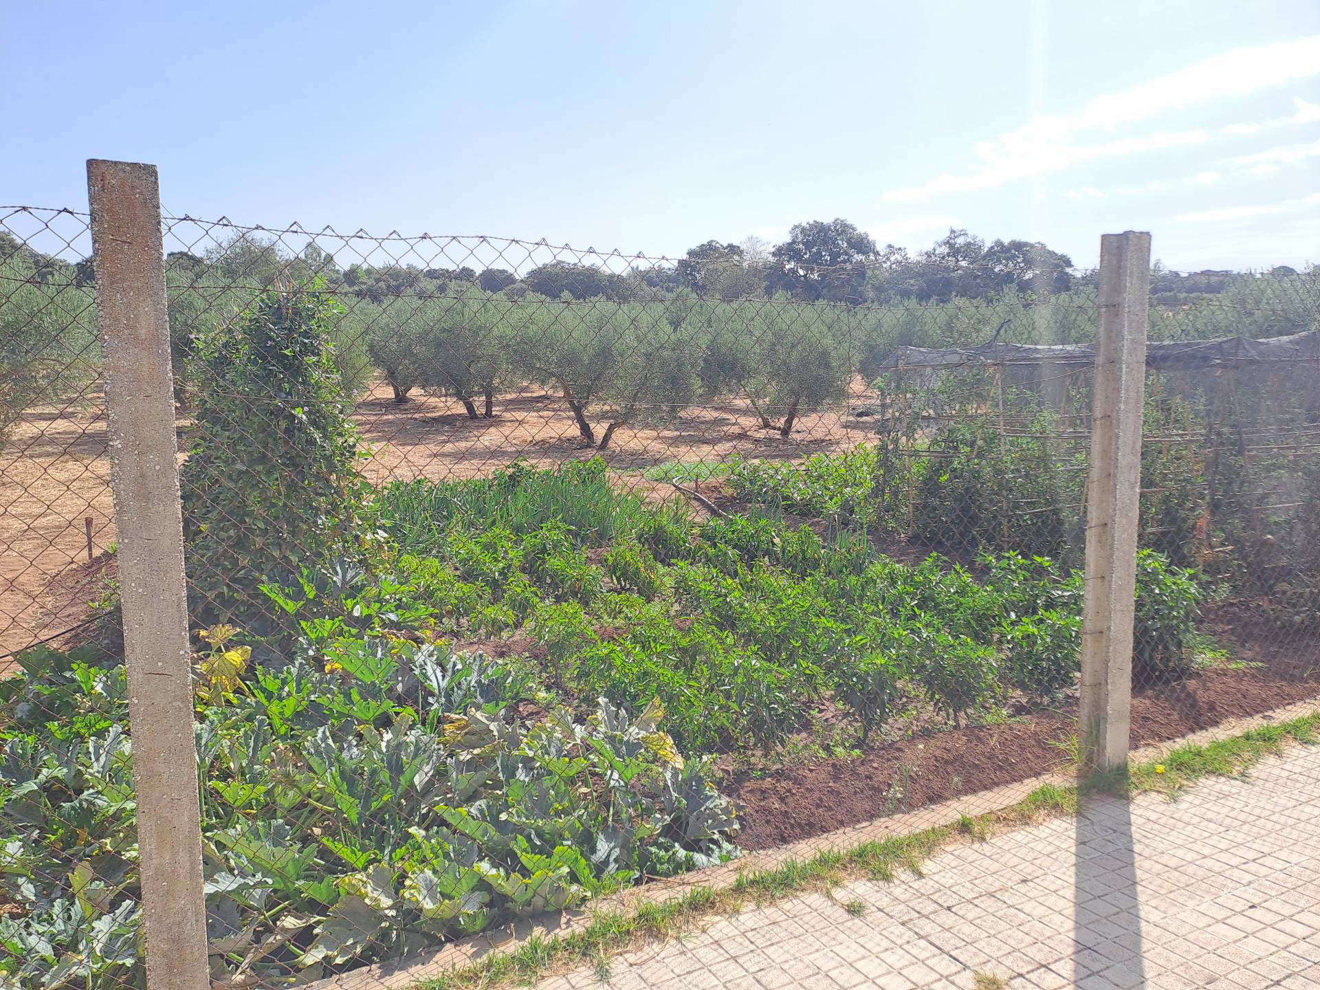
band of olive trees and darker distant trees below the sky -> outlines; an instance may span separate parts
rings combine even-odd
[[[339,300],[326,322],[350,395],[379,376],[396,401],[416,389],[454,399],[473,420],[499,396],[539,384],[557,396],[585,446],[622,428],[673,420],[715,399],[747,401],[788,436],[804,414],[840,405],[899,345],[991,339],[1082,343],[1094,285],[1044,244],[986,244],[950,230],[909,255],[878,248],[842,219],[792,228],[775,247],[706,242],[673,264],[552,260],[517,273],[471,265],[337,263],[239,234],[166,257],[180,399],[195,356],[267,288],[315,284]],[[1175,275],[1156,265],[1151,339],[1270,337],[1316,326],[1320,269]],[[98,375],[88,261],[42,255],[0,234],[0,412],[66,395]]]

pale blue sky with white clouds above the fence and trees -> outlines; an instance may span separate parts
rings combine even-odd
[[[0,5],[0,202],[681,255],[845,216],[1320,261],[1320,4]]]

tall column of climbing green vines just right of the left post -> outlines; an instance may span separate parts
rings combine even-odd
[[[257,632],[257,591],[359,556],[358,434],[330,347],[338,305],[319,282],[260,296],[198,346],[197,433],[183,462],[190,609]]]

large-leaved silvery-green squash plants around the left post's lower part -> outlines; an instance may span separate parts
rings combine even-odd
[[[364,644],[378,664],[273,671],[236,635],[209,631],[197,706],[216,977],[313,979],[734,851],[659,705],[523,721],[523,682],[482,656],[388,640]],[[21,990],[144,985],[127,685],[91,653],[0,682],[0,977]]]

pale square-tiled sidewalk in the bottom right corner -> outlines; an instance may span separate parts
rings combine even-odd
[[[849,902],[865,911],[851,915]],[[858,907],[853,906],[854,909]],[[977,975],[998,977],[1005,982]],[[950,849],[540,990],[1320,987],[1320,747]]]

